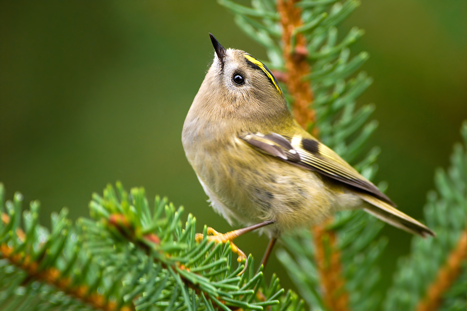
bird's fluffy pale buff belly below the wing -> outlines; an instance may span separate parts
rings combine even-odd
[[[333,211],[337,198],[320,175],[269,155],[254,156],[253,162],[247,156],[204,162],[197,170],[213,208],[230,223],[275,220],[267,229],[281,232],[320,222]]]

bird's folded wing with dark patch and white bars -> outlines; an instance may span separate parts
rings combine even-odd
[[[239,138],[262,153],[316,171],[396,206],[373,183],[316,139],[298,135],[286,137],[277,133],[247,133]]]

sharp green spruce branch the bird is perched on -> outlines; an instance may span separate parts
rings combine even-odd
[[[117,183],[116,191],[108,186],[103,197],[94,194],[90,209],[97,221],[82,220],[89,233],[85,236],[86,241],[90,241],[85,246],[109,269],[121,269],[115,263],[121,262],[119,258],[123,254],[132,266],[138,267],[138,277],[132,280],[135,290],[130,296],[135,299],[137,309],[141,304],[146,305],[149,299],[142,295],[147,283],[140,280],[154,278],[164,280],[158,285],[160,288],[173,289],[169,306],[174,309],[185,305],[191,310],[190,306],[202,303],[208,309],[236,307],[263,310],[264,307],[281,304],[279,300],[271,299],[279,296],[277,292],[270,292],[262,301],[257,300],[256,294],[263,282],[262,272],[255,274],[250,269],[239,277],[237,274],[243,265],[231,271],[229,243],[215,244],[207,239],[196,243],[196,219],[190,214],[185,228],[181,226],[183,207],[175,210],[172,204],[167,205],[166,199],[156,197],[151,215],[144,189],[134,188],[127,194]],[[160,218],[164,213],[165,218]],[[205,227],[205,236],[206,230]],[[103,232],[106,234],[103,235]],[[95,236],[96,233],[98,236]],[[107,250],[105,253],[102,252],[103,248]],[[252,264],[253,259],[250,257],[248,260]],[[281,289],[279,291],[283,292]],[[159,305],[165,306],[167,294],[161,291],[159,297],[151,295],[150,299],[158,305],[158,298]],[[289,300],[292,302],[297,298],[291,296]]]

